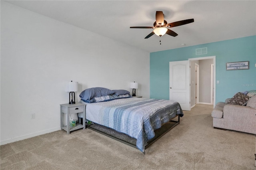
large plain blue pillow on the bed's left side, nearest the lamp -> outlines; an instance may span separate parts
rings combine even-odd
[[[94,97],[112,95],[113,93],[114,91],[104,87],[93,87],[82,91],[79,96],[83,101],[86,101]]]

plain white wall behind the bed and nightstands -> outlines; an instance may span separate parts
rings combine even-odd
[[[65,85],[149,97],[149,53],[1,1],[1,144],[60,130]],[[30,115],[36,113],[36,119]]]

